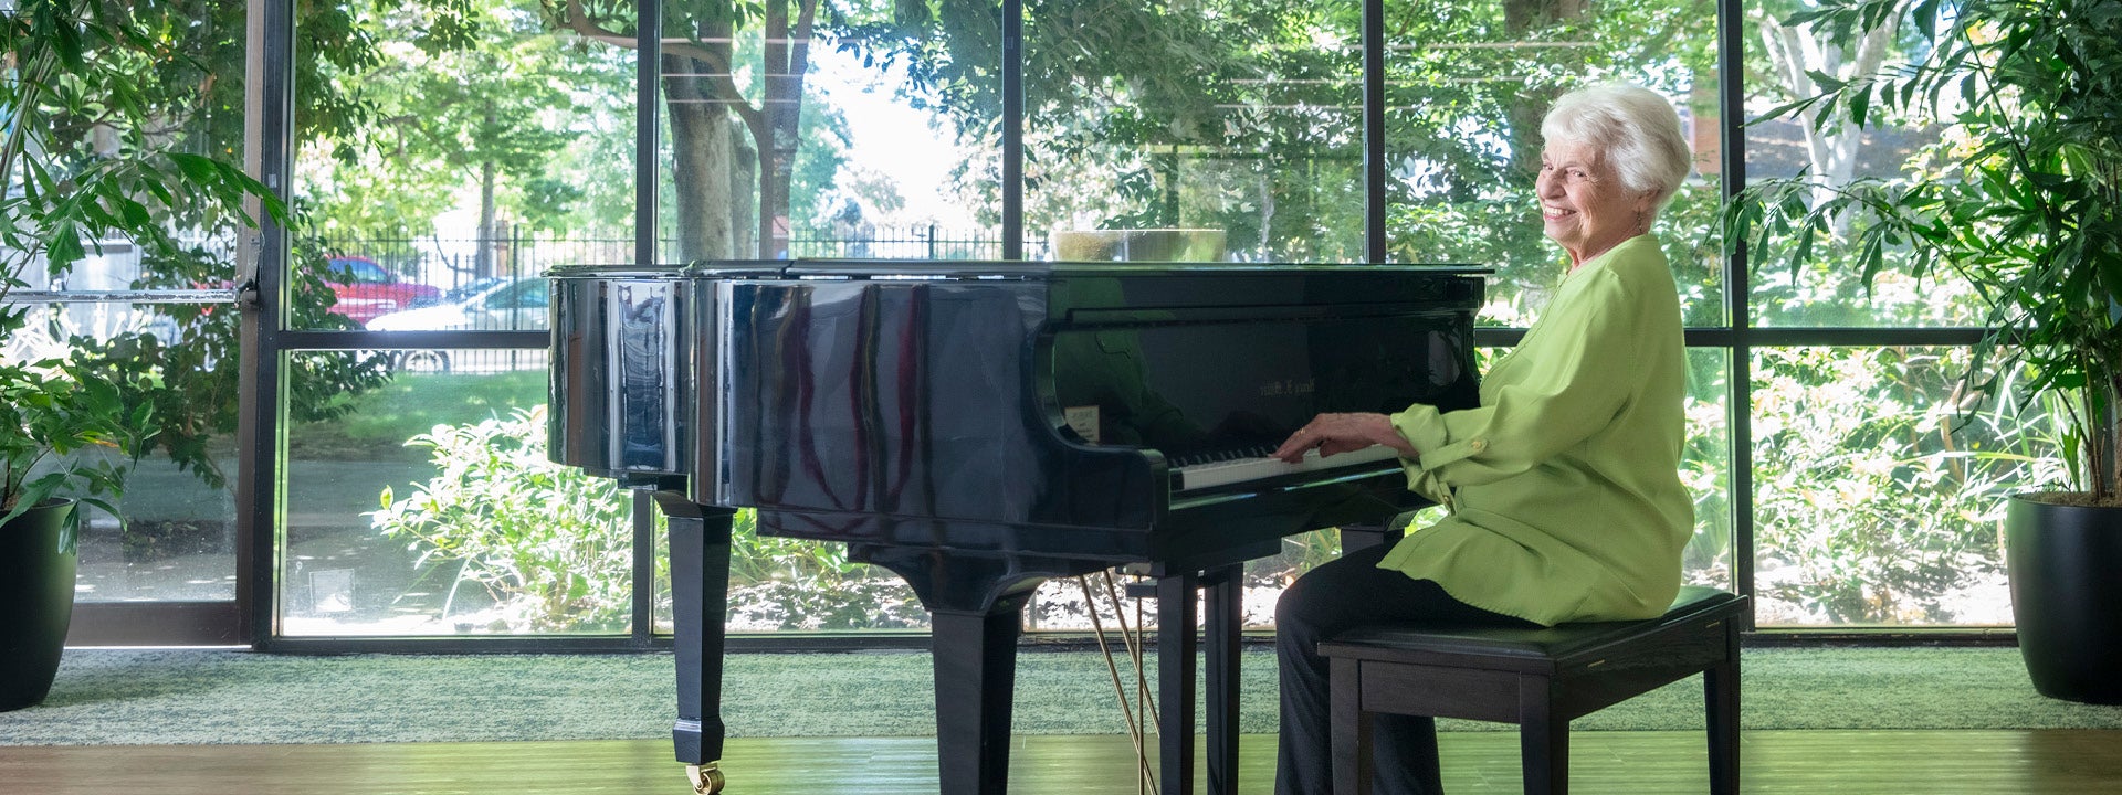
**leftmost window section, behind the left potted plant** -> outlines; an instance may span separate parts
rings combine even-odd
[[[227,477],[242,356],[233,297],[210,293],[236,273],[229,248],[250,231],[231,212],[212,210],[204,182],[172,157],[242,165],[246,4],[138,4],[123,13],[0,6],[8,25],[0,55],[0,314],[11,320],[0,329],[0,365],[11,367],[8,409],[68,405],[89,392],[79,384],[106,382],[117,386],[125,418],[146,411],[149,420],[127,426],[153,428],[123,477],[123,519],[83,507],[79,600],[229,602],[236,511]],[[53,40],[47,25],[76,36]],[[76,233],[89,235],[81,257],[51,273],[47,254]],[[149,303],[98,295],[112,290],[166,295]],[[57,293],[64,303],[28,293]],[[91,375],[36,365],[55,360]],[[8,447],[23,441],[36,454],[47,449],[47,432],[0,428]],[[25,464],[13,456],[4,462],[11,481],[23,475],[13,464]],[[102,452],[45,456],[36,473],[59,464],[127,462]]]

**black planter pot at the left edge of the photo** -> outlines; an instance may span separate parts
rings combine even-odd
[[[70,500],[45,502],[0,526],[0,712],[51,693],[74,619],[74,551],[59,549]]]

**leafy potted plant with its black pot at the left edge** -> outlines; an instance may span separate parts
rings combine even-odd
[[[178,257],[172,218],[240,216],[246,197],[280,214],[238,167],[170,151],[172,119],[144,100],[176,57],[157,36],[127,4],[0,0],[0,339],[34,331],[42,303],[23,293],[62,282],[102,240]],[[136,392],[157,377],[108,352],[0,348],[0,708],[51,683],[79,505],[117,513],[123,471],[155,435]]]

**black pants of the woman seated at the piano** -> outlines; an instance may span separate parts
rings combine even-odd
[[[1275,655],[1282,664],[1282,744],[1275,795],[1333,793],[1333,725],[1326,657],[1320,640],[1364,623],[1500,623],[1524,619],[1454,600],[1432,581],[1377,568],[1386,545],[1358,549],[1297,579],[1275,602]],[[1377,795],[1441,795],[1437,721],[1377,714],[1371,723]]]

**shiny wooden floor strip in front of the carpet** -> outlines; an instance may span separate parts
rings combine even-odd
[[[1706,791],[1693,731],[1579,731],[1572,791]],[[934,793],[932,740],[732,740],[732,795]],[[1746,793],[2111,795],[2122,793],[2122,729],[1749,731]],[[6,795],[685,795],[666,742],[488,742],[335,746],[0,746]],[[1517,738],[1447,734],[1451,795],[1515,793]],[[1271,791],[1273,738],[1248,736],[1239,791]],[[1133,793],[1127,738],[1019,738],[1014,795]]]

